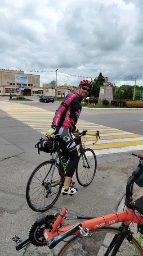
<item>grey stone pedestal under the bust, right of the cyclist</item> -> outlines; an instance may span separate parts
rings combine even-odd
[[[110,103],[113,100],[113,88],[108,86],[100,87],[99,97],[98,97],[98,103],[102,103],[103,99],[108,100]]]

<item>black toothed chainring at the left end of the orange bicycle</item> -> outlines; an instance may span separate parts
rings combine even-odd
[[[29,240],[35,246],[46,246],[47,242],[43,236],[44,229],[52,229],[52,224],[56,219],[54,215],[47,215],[45,217],[46,222],[41,221],[43,217],[39,217],[37,221],[33,224],[29,232]]]

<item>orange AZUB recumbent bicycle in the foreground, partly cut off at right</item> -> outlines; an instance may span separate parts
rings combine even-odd
[[[13,237],[16,250],[29,243],[36,246],[48,245],[52,249],[70,237],[59,252],[59,256],[143,256],[143,249],[130,230],[131,224],[136,223],[138,231],[143,234],[143,197],[136,201],[132,198],[134,183],[143,187],[143,155],[138,157],[139,165],[126,184],[127,210],[96,218],[77,217],[83,221],[68,225],[65,224],[66,208],[55,215],[41,215],[31,227],[28,239],[21,241],[17,235]],[[107,227],[120,222],[120,228]]]

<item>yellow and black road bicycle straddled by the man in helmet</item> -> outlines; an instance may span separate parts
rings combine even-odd
[[[94,179],[97,160],[94,151],[85,148],[86,135],[95,136],[95,144],[98,141],[99,132],[89,133],[87,130],[74,133],[74,141],[78,146],[79,160],[76,167],[76,178],[78,183],[87,187]],[[45,142],[48,139],[43,139]],[[57,137],[51,139],[57,142]],[[44,212],[51,208],[58,200],[64,184],[65,169],[63,167],[62,151],[57,142],[56,153],[51,153],[51,160],[38,165],[31,173],[26,187],[26,199],[28,206],[38,212]],[[42,151],[42,150],[41,150]],[[48,151],[49,152],[49,151]],[[54,155],[55,154],[55,155]],[[67,162],[68,164],[68,162]]]

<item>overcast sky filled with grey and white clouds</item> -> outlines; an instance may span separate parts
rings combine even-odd
[[[99,72],[143,85],[143,0],[2,0],[0,69],[46,71],[41,84],[58,69],[58,85]]]

